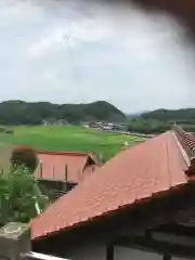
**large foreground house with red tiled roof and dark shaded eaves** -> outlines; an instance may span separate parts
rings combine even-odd
[[[195,258],[195,139],[122,150],[31,220],[34,250],[70,260]]]

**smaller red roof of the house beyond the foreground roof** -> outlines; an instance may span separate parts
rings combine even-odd
[[[42,167],[39,165],[37,168],[36,178],[65,181],[65,165],[67,165],[67,180],[72,183],[82,181],[93,171],[95,165],[92,156],[87,153],[39,152],[38,158]]]

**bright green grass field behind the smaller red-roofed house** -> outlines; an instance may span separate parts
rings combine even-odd
[[[8,150],[12,145],[28,145],[44,151],[91,152],[103,160],[114,156],[125,144],[141,138],[108,133],[81,127],[13,127],[14,134],[0,134],[0,143]],[[3,147],[2,146],[2,147]],[[2,148],[3,150],[3,148]],[[0,151],[0,156],[1,156]]]

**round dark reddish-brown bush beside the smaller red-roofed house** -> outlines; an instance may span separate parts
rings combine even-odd
[[[25,166],[30,172],[34,172],[38,165],[36,152],[30,147],[20,146],[12,151],[12,166]]]

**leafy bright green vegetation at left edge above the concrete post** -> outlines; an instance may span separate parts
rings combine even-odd
[[[25,167],[14,167],[0,176],[0,223],[28,222],[48,206],[34,174]]]

